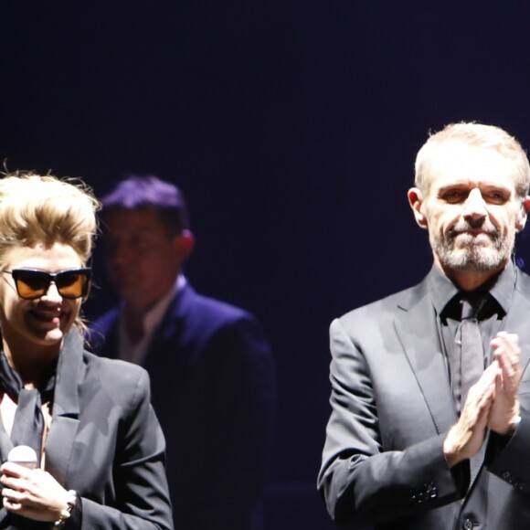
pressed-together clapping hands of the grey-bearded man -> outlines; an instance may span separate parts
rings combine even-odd
[[[519,337],[499,332],[491,345],[493,362],[471,387],[460,419],[444,440],[443,452],[450,467],[480,451],[486,429],[501,435],[511,434],[514,420],[519,416]]]

